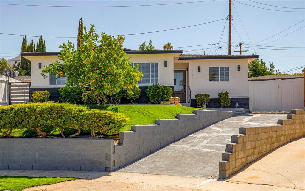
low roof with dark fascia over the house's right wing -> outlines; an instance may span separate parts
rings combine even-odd
[[[258,55],[182,54],[179,60],[258,58]]]

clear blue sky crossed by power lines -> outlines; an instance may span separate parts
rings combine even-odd
[[[63,5],[63,6],[117,6],[117,5],[151,5],[191,1],[3,1],[1,3],[26,4],[26,5]],[[256,0],[254,0],[256,1]],[[241,3],[248,4],[243,5]],[[305,8],[305,1],[256,1],[268,5],[291,8]],[[260,55],[266,63],[273,62],[276,69],[287,71],[305,65],[305,9],[286,9],[259,4],[249,0],[233,1],[232,16],[232,45],[243,41],[246,44],[266,45],[272,47],[252,48],[243,54]],[[266,9],[304,12],[280,12],[259,9],[249,5]],[[237,13],[235,11],[237,10]],[[177,5],[140,6],[140,7],[112,7],[112,8],[72,8],[72,7],[39,7],[0,5],[0,31],[1,33],[34,35],[34,36],[77,36],[78,21],[82,17],[85,26],[95,24],[98,33],[106,32],[110,35],[134,34],[158,30],[173,29],[207,23],[228,16],[228,0],[210,2],[197,2]],[[240,20],[239,20],[240,17]],[[304,20],[304,21],[303,21]],[[302,21],[302,22],[301,22]],[[159,33],[149,33],[125,36],[124,47],[137,50],[143,42],[152,39],[153,45],[161,49],[164,43],[170,42],[174,47],[185,47],[203,44],[213,44],[220,41],[221,33],[224,34],[220,46],[206,45],[183,49],[184,54],[228,54],[228,22],[225,20],[214,23],[193,26],[184,29],[170,30]],[[299,23],[300,22],[300,23]],[[299,23],[295,25],[296,23]],[[244,30],[243,26],[246,30]],[[295,26],[293,26],[295,25]],[[291,27],[293,26],[293,27]],[[273,36],[282,30],[290,29]],[[303,27],[303,28],[301,28]],[[301,29],[300,29],[301,28]],[[298,30],[300,29],[300,30]],[[297,30],[297,31],[295,31]],[[295,32],[293,32],[295,31]],[[293,33],[291,33],[293,32]],[[291,33],[291,34],[289,34]],[[238,35],[239,34],[239,35]],[[248,34],[248,35],[247,35]],[[287,35],[288,34],[288,35]],[[285,36],[287,35],[287,36]],[[249,38],[248,38],[249,36]],[[264,40],[273,36],[267,40]],[[282,37],[285,36],[285,37]],[[282,37],[282,38],[280,38]],[[280,38],[280,39],[278,39]],[[38,37],[27,37],[30,42]],[[278,40],[276,40],[278,39]],[[67,40],[76,43],[76,38],[47,38],[44,37],[47,51],[59,51],[58,46]],[[264,40],[262,42],[259,42]],[[271,42],[275,40],[274,42]],[[0,57],[12,58],[21,50],[22,36],[0,34]],[[258,43],[259,42],[259,43]],[[271,42],[271,43],[269,43]],[[289,48],[286,48],[289,47]],[[290,48],[293,47],[293,48]],[[294,48],[298,47],[298,48]],[[300,47],[300,48],[299,48]],[[233,46],[233,50],[238,47]],[[268,48],[268,49],[259,49]],[[205,50],[198,50],[205,49]],[[294,50],[269,50],[269,49],[294,49]],[[188,52],[187,52],[188,51]],[[232,53],[232,54],[239,54]],[[291,72],[300,72],[301,69]]]

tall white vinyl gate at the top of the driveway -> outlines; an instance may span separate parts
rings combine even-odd
[[[249,110],[304,109],[304,78],[249,81]]]

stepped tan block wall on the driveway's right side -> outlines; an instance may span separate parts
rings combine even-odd
[[[219,178],[228,178],[248,163],[294,139],[305,136],[305,111],[292,109],[287,119],[271,127],[239,128],[219,161]]]

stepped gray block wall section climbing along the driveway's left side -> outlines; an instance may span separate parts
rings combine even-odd
[[[133,125],[131,131],[121,132],[120,145],[114,147],[114,153],[110,156],[114,164],[112,170],[233,115],[231,111],[199,109],[193,113],[177,114],[177,119],[158,119],[156,125]]]

